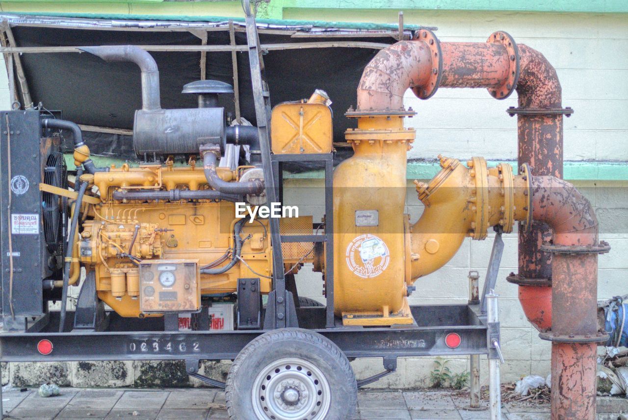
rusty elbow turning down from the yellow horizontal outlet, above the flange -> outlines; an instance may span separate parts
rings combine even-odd
[[[533,219],[553,229],[554,244],[597,244],[598,223],[588,199],[570,184],[553,176],[532,179]]]

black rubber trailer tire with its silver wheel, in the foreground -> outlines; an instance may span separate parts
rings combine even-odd
[[[346,420],[357,384],[338,346],[303,328],[260,335],[237,355],[227,375],[231,420]]]

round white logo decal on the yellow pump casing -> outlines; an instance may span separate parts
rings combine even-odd
[[[347,265],[364,278],[379,276],[390,262],[388,247],[377,236],[360,235],[347,246]]]

